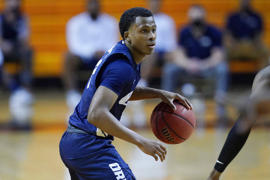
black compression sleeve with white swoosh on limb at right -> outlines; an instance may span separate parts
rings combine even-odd
[[[235,122],[230,133],[228,134],[225,144],[218,157],[217,163],[215,164],[214,168],[218,172],[223,172],[225,170],[225,168],[230,164],[232,159],[235,158],[235,156],[238,154],[238,152],[242,149],[245,142],[247,141],[251,129],[249,129],[243,134],[238,133],[237,127],[239,125],[240,117]]]

